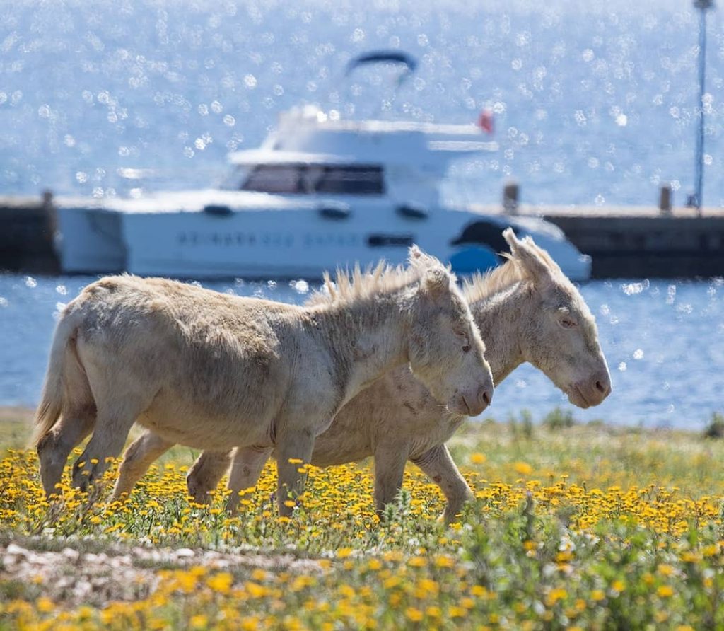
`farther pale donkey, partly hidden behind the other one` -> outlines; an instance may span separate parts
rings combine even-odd
[[[495,383],[523,362],[542,370],[571,403],[586,408],[611,391],[606,360],[594,317],[584,299],[550,256],[512,230],[503,233],[510,260],[486,276],[476,277],[464,293],[486,342]],[[374,456],[378,511],[400,490],[405,461],[410,459],[437,482],[447,498],[450,521],[471,497],[445,441],[463,421],[445,411],[406,367],[388,373],[350,401],[317,437],[312,464],[328,467]],[[159,456],[152,434],[142,435],[128,450],[119,486],[130,491]],[[232,488],[256,484],[271,451],[240,448],[230,472]],[[205,451],[188,476],[196,501],[208,501],[229,467],[230,452]],[[127,479],[124,479],[127,475]],[[233,499],[233,498],[232,498]]]

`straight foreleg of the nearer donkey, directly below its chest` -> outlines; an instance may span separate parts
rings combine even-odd
[[[282,517],[292,514],[293,501],[304,493],[302,465],[311,462],[314,438],[311,427],[288,427],[277,434],[277,502]]]

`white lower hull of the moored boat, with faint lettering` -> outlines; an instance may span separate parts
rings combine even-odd
[[[498,262],[494,253],[505,249],[500,233],[511,225],[518,235],[529,234],[550,251],[573,280],[590,275],[588,257],[581,256],[557,227],[542,220],[440,207],[429,209],[426,217],[411,217],[383,200],[313,204],[284,200],[276,209],[270,203],[235,207],[233,196],[224,193],[223,203],[217,198],[206,204],[214,212],[61,208],[62,267],[66,272],[126,270],[200,279],[319,278],[325,270],[355,263],[374,264],[379,259],[403,263],[408,246],[417,243],[444,262],[455,262],[456,255],[465,251],[468,263],[473,257],[473,265],[462,271],[484,271]],[[472,225],[482,232],[472,230],[472,238],[461,239],[471,233]],[[81,238],[83,230],[87,239]],[[489,236],[476,241],[476,233]]]

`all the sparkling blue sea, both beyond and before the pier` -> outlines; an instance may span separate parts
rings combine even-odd
[[[218,182],[300,104],[343,117],[471,122],[500,151],[452,167],[445,195],[529,204],[652,205],[693,189],[699,15],[689,1],[50,1],[0,4],[0,193],[112,196]],[[722,13],[708,14],[704,202],[724,205]],[[355,54],[401,49],[418,72],[345,78]],[[126,169],[146,179],[128,180]],[[720,279],[583,286],[614,393],[577,418],[701,427],[724,411]],[[0,275],[0,405],[34,405],[59,306],[88,277]],[[286,283],[206,283],[301,301]],[[490,414],[573,409],[530,367]]]

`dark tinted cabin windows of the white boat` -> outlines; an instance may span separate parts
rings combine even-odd
[[[242,191],[382,195],[382,167],[376,164],[257,164]]]

